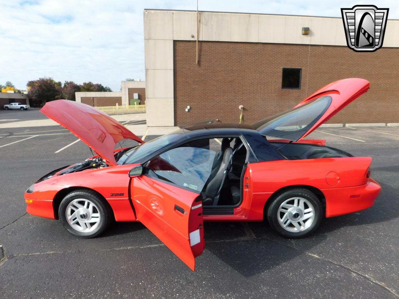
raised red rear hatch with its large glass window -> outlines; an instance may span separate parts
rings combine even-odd
[[[349,78],[319,89],[294,108],[265,118],[253,127],[264,136],[299,141],[369,89],[369,81]]]

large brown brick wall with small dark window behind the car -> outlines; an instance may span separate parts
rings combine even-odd
[[[324,85],[359,77],[370,90],[328,123],[399,122],[399,48],[358,53],[348,47],[174,41],[176,126],[214,120],[253,123],[292,108]],[[283,67],[302,68],[301,89],[281,89]],[[190,112],[185,108],[190,105]]]

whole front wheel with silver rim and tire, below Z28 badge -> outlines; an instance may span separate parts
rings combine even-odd
[[[77,190],[61,201],[58,209],[63,226],[81,238],[95,238],[102,234],[111,222],[111,208],[94,191]]]

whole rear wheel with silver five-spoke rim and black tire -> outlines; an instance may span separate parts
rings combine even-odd
[[[302,238],[322,220],[322,205],[308,189],[291,189],[276,197],[267,210],[270,225],[284,237]]]

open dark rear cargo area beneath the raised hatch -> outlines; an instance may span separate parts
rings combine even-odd
[[[329,146],[302,143],[270,142],[287,160],[353,157],[350,153]]]

